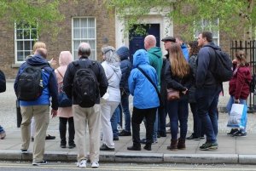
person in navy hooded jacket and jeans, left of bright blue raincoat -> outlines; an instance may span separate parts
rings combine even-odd
[[[120,47],[116,53],[120,58],[120,69],[122,71],[122,78],[119,83],[119,86],[125,88],[126,95],[121,100],[122,110],[125,115],[125,128],[122,132],[119,133],[119,136],[131,136],[131,113],[129,110],[129,95],[130,90],[128,86],[128,78],[131,73],[132,65],[131,61],[128,59],[130,56],[129,48],[122,46]]]

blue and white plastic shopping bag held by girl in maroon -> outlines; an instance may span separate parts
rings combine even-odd
[[[233,104],[230,111],[227,127],[243,129],[245,127],[246,117],[247,105]]]

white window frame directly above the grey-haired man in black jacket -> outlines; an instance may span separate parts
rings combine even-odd
[[[87,34],[86,35],[88,35],[88,28],[94,28],[95,29],[95,31],[94,31],[94,38],[88,38],[88,37],[85,37],[85,38],[81,38],[81,35],[80,35],[80,38],[74,38],[74,23],[73,23],[73,20],[74,19],[79,19],[79,20],[81,20],[81,19],[94,19],[94,27],[89,27],[89,26],[87,26],[87,27],[80,27],[81,29],[82,28],[87,28]],[[88,22],[87,22],[88,23]],[[80,24],[81,25],[81,24]],[[81,32],[80,32],[80,34],[81,34]],[[76,47],[74,47],[75,46],[75,43],[74,43],[74,41],[80,41],[80,43],[82,43],[82,42],[84,42],[84,43],[89,43],[90,41],[95,41],[95,43],[94,44],[91,44],[91,43],[89,43],[90,44],[90,60],[96,60],[96,17],[94,17],[94,16],[88,16],[88,17],[86,17],[86,16],[83,16],[83,17],[73,17],[72,18],[72,54],[73,54],[73,59],[74,60],[79,60],[79,57],[78,57],[78,48],[79,48],[79,46],[76,46]]]

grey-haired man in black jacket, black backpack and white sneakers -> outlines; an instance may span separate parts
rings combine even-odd
[[[70,63],[63,80],[67,97],[73,99],[73,121],[77,140],[77,166],[86,167],[86,127],[90,133],[90,165],[99,167],[100,151],[100,98],[107,92],[108,79],[102,65],[89,60],[90,44],[80,43],[79,60]]]

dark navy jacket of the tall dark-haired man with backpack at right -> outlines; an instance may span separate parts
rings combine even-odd
[[[214,43],[207,43],[197,55],[197,70],[195,72],[196,88],[217,88],[221,86],[212,75],[212,70],[216,66],[216,54],[214,50],[221,50]]]

